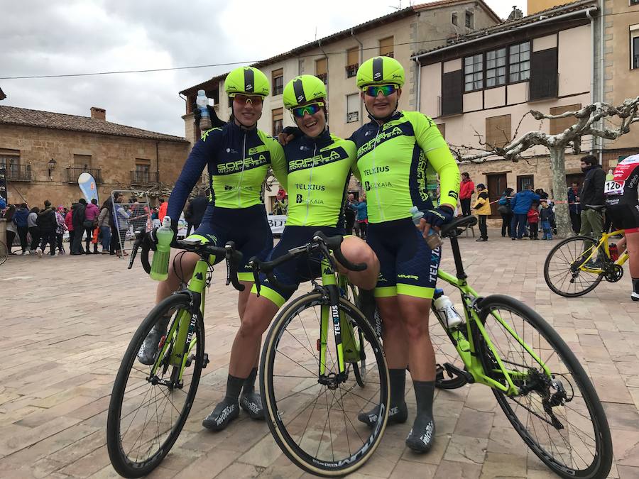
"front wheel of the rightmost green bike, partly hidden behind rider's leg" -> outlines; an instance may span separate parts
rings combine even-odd
[[[431,309],[433,312],[428,319],[428,331],[433,351],[435,351],[435,387],[439,387],[439,389],[457,389],[468,381],[464,376],[447,371],[444,364],[450,363],[459,369],[464,369],[464,361],[459,357],[459,353],[457,353],[447,329],[437,319],[432,305]],[[463,324],[459,331],[466,336],[466,325]]]

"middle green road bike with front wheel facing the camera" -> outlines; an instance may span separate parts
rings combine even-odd
[[[341,242],[342,236],[318,231],[273,261],[249,263],[258,292],[259,272],[285,290],[273,275],[278,265],[295,259],[320,263],[321,282],[313,279],[312,291],[286,304],[268,331],[260,389],[268,427],[283,453],[307,472],[327,477],[352,473],[373,455],[390,400],[378,331],[357,306],[356,287],[337,273],[335,258],[350,270],[366,265],[349,263]],[[369,409],[378,410],[370,428],[357,419]]]

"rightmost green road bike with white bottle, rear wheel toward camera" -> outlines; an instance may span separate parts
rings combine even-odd
[[[442,227],[450,239],[456,274],[440,280],[461,293],[465,321],[430,324],[438,361],[436,385],[491,387],[525,444],[563,478],[605,478],[612,464],[606,414],[584,368],[552,326],[512,297],[481,297],[466,281],[457,236],[476,224],[466,216]]]

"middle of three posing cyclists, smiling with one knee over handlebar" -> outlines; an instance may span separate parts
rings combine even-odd
[[[344,234],[346,187],[355,166],[355,145],[329,133],[326,87],[321,79],[301,75],[288,82],[283,92],[284,106],[293,113],[302,136],[284,148],[288,172],[288,219],[277,246],[268,255],[274,260],[288,250],[312,241],[318,230],[327,236]],[[378,275],[375,254],[359,238],[344,238],[342,253],[351,263],[366,263],[361,272],[341,270],[351,282],[372,290]],[[273,275],[283,285],[300,285],[320,275],[319,263],[291,260],[275,268]],[[278,309],[293,292],[281,290],[261,277],[261,292],[251,294],[241,317],[241,326],[231,348],[229,385],[224,400],[217,404],[205,426],[223,429],[238,416],[235,406],[243,378],[251,372],[253,358],[260,351],[261,337]],[[253,287],[251,293],[256,293]],[[224,412],[227,412],[224,414]],[[260,406],[259,412],[263,414]],[[220,419],[221,418],[221,419]]]

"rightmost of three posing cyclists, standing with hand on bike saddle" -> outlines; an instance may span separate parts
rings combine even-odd
[[[380,262],[374,294],[390,370],[389,423],[408,419],[404,388],[405,370],[410,365],[417,415],[406,444],[414,451],[426,452],[435,439],[435,353],[428,315],[440,248],[431,250],[423,237],[431,227],[452,220],[459,197],[459,167],[430,118],[417,111],[397,111],[404,84],[404,69],[397,60],[366,60],[356,79],[371,118],[351,139],[356,143],[357,167],[366,189],[367,242]],[[439,174],[437,208],[426,191],[427,167]],[[417,228],[411,218],[413,206],[424,212]],[[359,419],[371,424],[376,414],[373,410]]]

